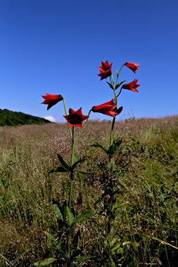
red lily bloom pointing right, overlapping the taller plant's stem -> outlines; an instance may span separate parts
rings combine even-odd
[[[116,107],[114,100],[115,99],[112,99],[101,105],[94,105],[94,107],[92,107],[92,112],[99,112],[107,116],[115,117],[118,113],[114,111],[114,108]]]

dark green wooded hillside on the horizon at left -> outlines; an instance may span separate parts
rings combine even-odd
[[[0,126],[16,126],[26,124],[44,124],[51,123],[49,120],[31,116],[23,112],[12,112],[10,110],[0,109]]]

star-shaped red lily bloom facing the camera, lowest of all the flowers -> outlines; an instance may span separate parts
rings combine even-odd
[[[63,116],[69,123],[68,128],[73,126],[82,127],[82,121],[86,120],[86,118],[89,118],[89,116],[82,114],[81,107],[76,112],[70,107],[68,113],[69,115]]]

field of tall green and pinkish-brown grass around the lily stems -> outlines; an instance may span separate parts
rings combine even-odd
[[[75,175],[73,205],[78,214],[102,205],[94,205],[103,194],[102,173],[95,162],[105,163],[107,157],[90,144],[108,144],[110,127],[106,120],[90,121],[77,143],[76,154],[88,159],[82,170],[94,171]],[[114,135],[123,138],[115,155],[120,193],[112,242],[117,247],[111,264],[105,258],[107,218],[96,214],[77,226],[80,249],[95,258],[76,266],[177,267],[177,129],[177,116],[115,124]],[[60,235],[52,203],[68,199],[69,179],[68,174],[49,170],[59,166],[56,153],[70,161],[71,138],[66,124],[1,127],[0,152],[0,266],[33,266],[55,253],[44,231]]]

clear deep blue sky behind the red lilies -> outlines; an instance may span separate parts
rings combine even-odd
[[[87,115],[114,98],[97,76],[108,60],[114,77],[125,62],[141,64],[120,73],[141,86],[120,94],[117,120],[177,114],[177,12],[177,0],[0,0],[0,108],[64,122],[62,102],[40,104],[48,92]]]

